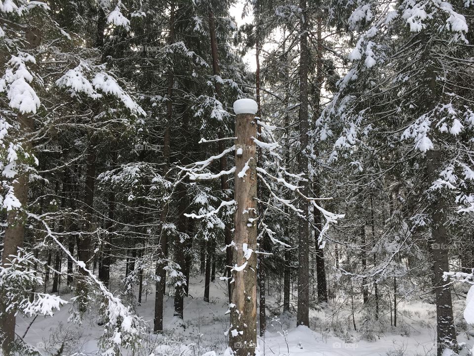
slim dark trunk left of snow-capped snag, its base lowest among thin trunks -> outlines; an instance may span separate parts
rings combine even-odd
[[[171,2],[170,6],[170,15],[169,15],[169,39],[168,44],[174,43],[174,16],[175,16],[175,4]],[[164,131],[163,139],[163,175],[169,169],[169,146],[171,139],[171,121],[173,118],[173,85],[174,85],[174,74],[172,68],[168,72],[168,92],[167,92],[167,102],[166,102],[166,128]],[[163,227],[166,223],[166,217],[168,215],[168,203],[162,200],[161,202],[161,213],[160,213],[160,225],[161,233],[159,237],[159,246],[157,251],[157,284],[155,291],[155,317],[153,331],[155,333],[163,332],[163,297],[166,286],[166,269],[167,258],[168,258],[168,236],[167,231],[164,231]]]

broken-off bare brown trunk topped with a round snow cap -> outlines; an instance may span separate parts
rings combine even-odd
[[[255,114],[257,103],[240,99],[234,103],[236,121],[236,212],[232,276],[229,347],[237,356],[255,355],[257,344],[257,174]]]

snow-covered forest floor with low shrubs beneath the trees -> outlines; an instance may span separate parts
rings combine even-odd
[[[117,286],[118,283],[116,288]],[[144,288],[144,291],[146,289],[148,293],[144,294],[143,303],[136,306],[136,312],[148,321],[153,329],[155,289],[151,284]],[[63,299],[69,300],[72,297],[66,290],[64,293]],[[173,316],[173,297],[166,298],[164,334],[156,336],[151,333],[149,339],[143,341],[138,354],[203,356],[208,352],[216,352],[217,355],[223,355],[227,347],[225,331],[229,324],[229,317],[225,314],[228,310],[226,284],[218,278],[211,283],[210,303],[203,301],[203,293],[203,276],[192,278],[190,296],[185,299],[184,326]],[[269,315],[272,310],[279,309],[279,298],[275,298],[275,295],[277,293],[267,297],[267,332],[264,337],[258,339],[260,356],[436,354],[435,306],[432,304],[420,300],[400,302],[396,327],[391,326],[390,314],[381,315],[379,321],[364,325],[363,320],[366,317],[361,312],[356,312],[356,331],[351,304],[341,298],[341,302],[334,301],[324,309],[311,311],[310,328],[297,328],[295,312],[279,315],[278,318]],[[462,319],[464,295],[463,292],[453,295],[458,342],[466,343],[467,348],[472,349],[474,332],[467,328]],[[103,331],[103,327],[97,324],[100,315],[91,308],[84,316],[82,325],[76,325],[67,321],[69,309],[66,305],[53,317],[39,316],[28,330],[25,341],[35,346],[43,355],[57,355],[59,345],[63,342],[64,350],[60,355],[100,355],[97,346],[97,340]],[[23,335],[30,322],[31,319],[18,317],[17,334]]]

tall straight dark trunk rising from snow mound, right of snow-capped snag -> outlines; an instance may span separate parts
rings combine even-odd
[[[299,131],[300,131],[300,153],[298,157],[299,173],[308,173],[308,13],[307,1],[300,1],[302,14],[300,18],[300,108],[299,108]],[[301,183],[301,193],[308,194],[308,182]],[[309,225],[308,225],[308,201],[300,199],[299,208],[303,211],[299,221],[299,245],[298,245],[298,311],[296,325],[309,326]]]

